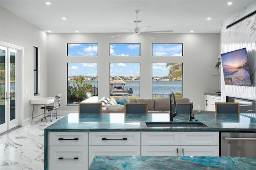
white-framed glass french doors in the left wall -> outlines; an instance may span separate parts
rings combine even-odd
[[[19,125],[16,109],[17,50],[0,46],[0,133]]]

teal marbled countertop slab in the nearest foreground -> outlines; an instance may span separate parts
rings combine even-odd
[[[95,156],[89,170],[253,170],[256,158],[213,156]]]

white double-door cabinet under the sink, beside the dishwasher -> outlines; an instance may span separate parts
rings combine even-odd
[[[142,156],[219,156],[218,132],[142,132]]]

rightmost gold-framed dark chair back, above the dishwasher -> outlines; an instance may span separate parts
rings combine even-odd
[[[217,113],[240,113],[239,103],[236,102],[216,102],[215,112]]]

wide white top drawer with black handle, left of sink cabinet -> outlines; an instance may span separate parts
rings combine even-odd
[[[89,145],[140,146],[140,132],[89,132]]]

